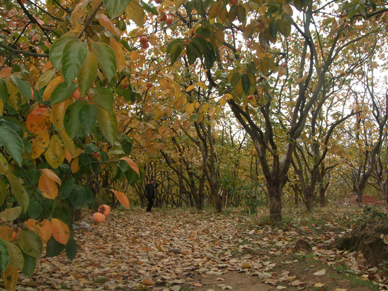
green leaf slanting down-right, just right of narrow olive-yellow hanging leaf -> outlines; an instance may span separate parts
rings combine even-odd
[[[108,82],[110,82],[117,72],[117,62],[114,50],[103,42],[93,42],[92,49],[97,57],[98,65],[105,74]]]

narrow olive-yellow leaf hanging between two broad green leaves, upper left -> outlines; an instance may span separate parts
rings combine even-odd
[[[94,53],[88,51],[85,63],[82,66],[80,73],[78,74],[78,88],[81,92],[81,97],[88,93],[92,88],[93,82],[97,77],[98,63]]]

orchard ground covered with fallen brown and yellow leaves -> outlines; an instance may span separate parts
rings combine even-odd
[[[276,227],[266,210],[112,209],[102,224],[83,211],[92,229],[75,231],[76,259],[42,256],[32,278],[19,275],[17,290],[387,290],[384,272],[362,254],[334,247],[365,219],[353,206],[292,208]]]

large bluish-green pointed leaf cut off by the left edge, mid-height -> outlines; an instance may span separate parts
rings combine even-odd
[[[0,126],[0,142],[8,154],[21,166],[23,158],[21,155],[24,152],[23,141],[20,136],[12,129]]]

